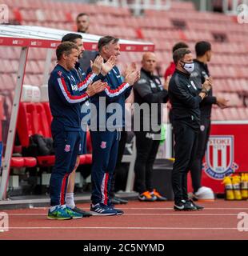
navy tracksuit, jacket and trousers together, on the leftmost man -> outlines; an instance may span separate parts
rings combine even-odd
[[[51,131],[55,150],[55,165],[50,178],[51,206],[65,204],[68,176],[74,170],[82,141],[81,103],[89,98],[85,90],[95,76],[90,73],[80,79],[76,70],[67,71],[60,65],[56,65],[50,74],[48,92],[54,117]]]

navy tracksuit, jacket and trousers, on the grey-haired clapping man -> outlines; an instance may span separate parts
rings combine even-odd
[[[89,69],[87,74],[90,74],[90,72],[91,70]],[[93,159],[91,201],[94,205],[97,203],[110,204],[110,184],[118,156],[120,130],[125,125],[125,99],[130,95],[132,88],[128,83],[122,82],[117,66],[114,66],[106,75],[104,82],[108,83],[106,89],[90,98],[90,102],[94,104],[97,110],[97,113],[93,113],[94,111],[91,110],[90,115]],[[103,102],[102,99],[105,99],[106,102]],[[117,103],[122,109],[122,116],[118,117],[118,120],[113,122],[113,125],[107,123],[107,120],[110,121],[109,118],[112,115],[112,113],[106,113],[106,108],[110,103]],[[101,111],[105,112],[106,117]],[[106,126],[107,124],[108,126]]]

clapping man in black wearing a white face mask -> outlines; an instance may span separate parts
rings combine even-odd
[[[187,194],[187,173],[196,157],[200,126],[200,102],[208,94],[212,80],[206,79],[202,90],[190,82],[194,71],[193,56],[186,48],[173,54],[176,70],[169,83],[169,98],[173,112],[175,162],[172,170],[174,210],[200,210],[202,206],[190,201]]]

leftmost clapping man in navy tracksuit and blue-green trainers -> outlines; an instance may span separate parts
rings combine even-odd
[[[54,139],[55,165],[50,178],[49,219],[82,218],[65,205],[67,180],[74,170],[81,142],[80,103],[104,90],[106,84],[93,79],[100,73],[102,59],[97,58],[93,73],[79,82],[74,66],[78,61],[78,46],[73,42],[62,42],[56,50],[58,64],[50,74],[48,82],[51,124]]]

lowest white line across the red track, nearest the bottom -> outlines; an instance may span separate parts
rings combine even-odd
[[[9,230],[237,230],[237,227],[12,226],[9,227]]]

